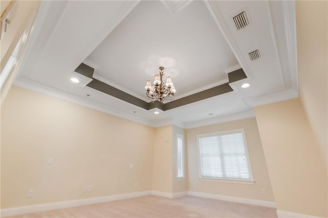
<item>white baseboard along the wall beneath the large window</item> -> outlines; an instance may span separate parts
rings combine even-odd
[[[195,197],[201,197],[201,198],[210,198],[210,199],[217,199],[217,200],[222,200],[222,201],[230,201],[230,202],[236,202],[236,203],[242,203],[242,204],[252,204],[252,205],[258,205],[258,206],[263,206],[263,207],[276,208],[276,203],[272,202],[272,201],[261,201],[261,200],[248,199],[248,198],[220,196],[220,195],[214,195],[214,194],[196,192],[196,191],[188,191],[188,195],[195,196]]]

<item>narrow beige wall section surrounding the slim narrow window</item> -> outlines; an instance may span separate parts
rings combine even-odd
[[[177,134],[183,137],[183,153],[185,158],[185,178],[177,179],[177,163],[176,163],[176,145]],[[188,167],[187,167],[187,146],[186,146],[186,130],[178,126],[173,126],[173,143],[172,143],[172,192],[188,191]]]

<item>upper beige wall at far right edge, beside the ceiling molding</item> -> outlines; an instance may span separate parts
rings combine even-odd
[[[297,1],[299,97],[328,165],[328,2]]]

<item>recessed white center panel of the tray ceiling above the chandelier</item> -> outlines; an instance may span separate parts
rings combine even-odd
[[[95,68],[95,78],[146,98],[144,84],[154,79],[159,64],[150,64],[151,76],[140,65],[154,55],[175,59],[179,75],[164,71],[173,76],[177,97],[227,79],[224,69],[238,64],[203,1],[174,15],[160,1],[141,1],[84,63]]]

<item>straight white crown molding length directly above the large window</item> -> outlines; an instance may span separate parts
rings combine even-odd
[[[185,127],[186,129],[192,129],[196,127],[208,126],[213,124],[227,123],[234,120],[246,119],[250,117],[255,117],[255,113],[253,110],[190,122],[190,123],[186,123]]]

